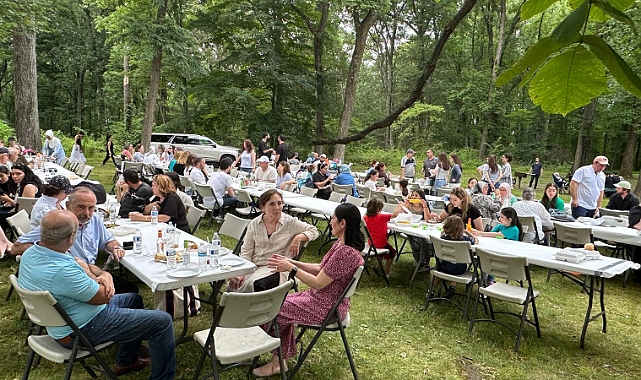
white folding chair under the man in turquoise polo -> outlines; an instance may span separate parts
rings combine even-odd
[[[27,338],[29,356],[27,357],[23,379],[29,378],[29,373],[31,372],[31,367],[36,355],[54,363],[67,363],[65,380],[71,378],[75,362],[80,362],[92,378],[96,378],[94,369],[97,369],[110,379],[118,379],[111,368],[109,368],[105,359],[99,354],[99,351],[114,345],[114,342],[92,345],[51,293],[48,291],[25,290],[18,285],[18,278],[14,275],[10,275],[9,280],[20,296],[22,304],[29,315],[29,319],[37,326],[36,334],[29,335]],[[43,332],[43,328],[53,326],[69,326],[73,330],[74,338],[71,349],[61,346],[49,335],[40,335]],[[100,367],[92,368],[92,366],[86,362],[86,359],[89,357],[95,358]]]

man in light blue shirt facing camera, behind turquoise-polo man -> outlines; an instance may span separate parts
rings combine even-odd
[[[67,209],[73,212],[79,222],[76,240],[69,249],[73,257],[81,259],[96,271],[99,270],[95,266],[99,249],[106,250],[116,260],[125,255],[125,250],[116,241],[113,234],[107,231],[100,216],[94,214],[96,195],[91,189],[82,186],[73,189],[67,199]],[[34,228],[27,234],[20,236],[11,248],[11,254],[21,255],[27,248],[39,241],[41,228]],[[124,278],[115,277],[113,281],[118,294],[138,293],[138,287]]]

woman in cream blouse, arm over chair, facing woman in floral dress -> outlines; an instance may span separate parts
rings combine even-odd
[[[283,196],[270,189],[258,200],[263,212],[247,226],[240,257],[256,265],[247,276],[234,277],[229,289],[237,292],[258,292],[278,286],[287,280],[287,273],[272,273],[267,260],[275,253],[290,258],[298,254],[301,244],[318,237],[318,230],[283,212]]]

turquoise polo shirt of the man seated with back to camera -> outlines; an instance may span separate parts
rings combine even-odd
[[[89,278],[73,257],[37,244],[22,255],[18,284],[27,290],[49,291],[79,328],[106,307],[87,303],[98,293],[100,286]],[[47,327],[47,332],[54,339],[64,338],[72,331],[68,326]]]

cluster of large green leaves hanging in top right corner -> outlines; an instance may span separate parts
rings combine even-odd
[[[523,6],[523,18],[541,13],[554,3],[551,0],[530,0]],[[574,10],[556,26],[550,37],[532,46],[522,59],[499,76],[496,83],[506,84],[518,73],[529,69],[520,85],[530,83],[532,101],[546,112],[565,116],[606,91],[605,65],[624,89],[641,96],[641,79],[628,63],[602,38],[586,32],[589,20],[599,19],[588,17],[591,10],[599,9],[636,34],[634,21],[623,13],[631,2],[584,0],[571,5]]]

